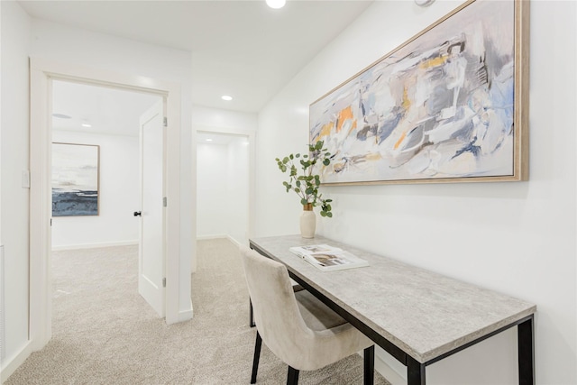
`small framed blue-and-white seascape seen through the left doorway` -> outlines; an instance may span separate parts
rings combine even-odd
[[[52,216],[98,215],[96,145],[52,143]]]

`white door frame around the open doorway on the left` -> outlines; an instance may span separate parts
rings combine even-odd
[[[146,92],[166,98],[167,143],[164,174],[166,208],[165,266],[166,322],[179,322],[180,252],[180,87],[178,84],[90,69],[75,64],[31,58],[30,60],[30,312],[29,340],[32,350],[50,341],[52,331],[50,217],[51,217],[51,80],[78,81],[97,86]]]

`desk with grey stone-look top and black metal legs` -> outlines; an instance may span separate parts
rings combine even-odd
[[[289,247],[327,243],[371,266],[321,271]],[[536,306],[322,236],[254,238],[251,248],[287,266],[289,275],[375,344],[407,366],[408,385],[426,383],[426,366],[517,326],[519,384],[535,383]]]

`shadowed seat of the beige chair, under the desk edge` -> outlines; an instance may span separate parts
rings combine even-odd
[[[295,297],[300,315],[311,330],[320,332],[346,324],[342,316],[336,314],[307,290],[296,292]]]

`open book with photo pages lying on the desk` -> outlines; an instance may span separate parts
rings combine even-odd
[[[298,255],[317,269],[323,271],[352,269],[369,266],[369,262],[362,260],[351,252],[328,244],[290,247],[290,252]]]

